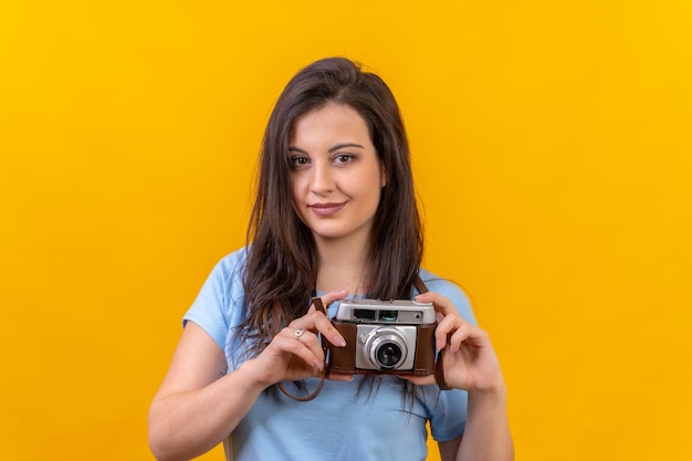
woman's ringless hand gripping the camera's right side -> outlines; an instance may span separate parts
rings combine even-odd
[[[500,363],[487,333],[464,321],[452,302],[440,294],[423,293],[416,301],[432,303],[438,312],[436,348],[444,350],[441,365],[447,385],[469,391],[504,391]],[[420,385],[436,383],[432,375],[406,379]]]

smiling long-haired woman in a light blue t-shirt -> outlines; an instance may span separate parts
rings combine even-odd
[[[149,410],[157,459],[188,460],[232,434],[237,461],[422,460],[428,421],[443,460],[513,459],[487,335],[463,292],[420,268],[408,142],[377,75],[334,57],[291,80],[264,135],[248,235],[185,316]],[[454,389],[433,376],[329,374],[310,401],[274,391],[319,386],[319,336],[346,346],[315,295],[329,317],[347,296],[433,303],[438,367]]]

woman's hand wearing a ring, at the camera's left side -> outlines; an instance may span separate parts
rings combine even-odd
[[[328,306],[345,298],[347,294],[346,291],[331,292],[322,296],[322,302]],[[346,340],[326,315],[312,305],[307,314],[291,322],[252,360],[255,365],[253,368],[259,374],[258,380],[269,387],[280,381],[319,376],[324,369],[325,357],[318,334],[337,347],[346,345]]]

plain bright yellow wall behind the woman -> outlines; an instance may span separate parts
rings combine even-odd
[[[271,105],[333,54],[398,95],[517,460],[691,459],[691,4],[2,1],[0,459],[151,459]]]

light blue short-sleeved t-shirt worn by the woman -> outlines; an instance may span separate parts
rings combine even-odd
[[[223,258],[205,282],[185,315],[201,326],[224,350],[229,373],[243,360],[234,333],[245,317],[242,269],[245,249]],[[454,284],[421,271],[430,291],[450,298],[466,321],[475,324],[471,305]],[[336,303],[329,306],[335,315]],[[311,401],[263,392],[233,431],[233,459],[244,460],[424,460],[426,423],[432,437],[447,441],[461,436],[466,421],[466,392],[417,386],[412,405],[402,400],[400,379],[375,378],[373,391],[357,392],[361,375],[353,381],[325,380]],[[306,379],[312,391],[318,379]],[[286,384],[289,389],[292,384]],[[297,394],[297,392],[296,392]]]

